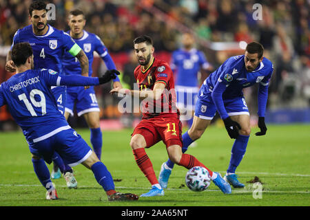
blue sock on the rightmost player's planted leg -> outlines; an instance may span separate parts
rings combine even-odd
[[[249,136],[245,135],[239,135],[235,140],[234,145],[231,148],[231,158],[227,173],[235,173],[237,166],[240,164],[243,156],[245,155],[248,141]]]

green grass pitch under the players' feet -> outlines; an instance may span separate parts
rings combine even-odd
[[[165,196],[141,197],[134,202],[107,201],[91,170],[82,165],[74,167],[76,190],[68,189],[63,178],[55,179],[59,199],[45,200],[45,189],[34,174],[21,131],[0,133],[0,206],[310,206],[310,125],[269,124],[267,135],[261,137],[254,135],[257,128],[252,130],[247,153],[237,169],[245,188],[233,188],[231,195],[223,195],[211,183],[204,192],[192,192],[185,186],[187,170],[175,166]],[[77,131],[90,144],[90,131]],[[150,185],[134,161],[129,145],[131,133],[132,129],[103,131],[102,161],[112,173],[116,190],[141,195]],[[233,142],[224,128],[210,126],[197,141],[198,146],[187,153],[223,176]],[[146,151],[158,176],[167,159],[165,146],[161,142]],[[52,170],[51,165],[48,167]],[[254,199],[254,185],[247,183],[254,177],[263,183],[262,199]]]

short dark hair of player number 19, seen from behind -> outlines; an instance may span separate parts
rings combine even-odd
[[[12,47],[11,57],[14,64],[19,67],[25,64],[29,56],[32,56],[32,47],[28,42],[17,43]]]

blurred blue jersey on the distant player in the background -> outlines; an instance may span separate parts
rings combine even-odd
[[[207,69],[209,63],[203,52],[192,49],[180,49],[172,53],[171,68],[176,74],[176,86],[198,87],[198,72],[200,68]]]

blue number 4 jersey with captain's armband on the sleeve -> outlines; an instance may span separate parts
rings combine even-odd
[[[35,35],[32,25],[17,30],[14,35],[12,47],[16,43],[30,43],[34,55],[34,69],[54,69],[63,74],[61,58],[65,52],[70,56],[76,56],[81,47],[76,45],[71,36],[61,30],[48,25],[48,32],[45,35]],[[11,48],[12,48],[11,47]],[[71,55],[72,54],[72,55]]]

